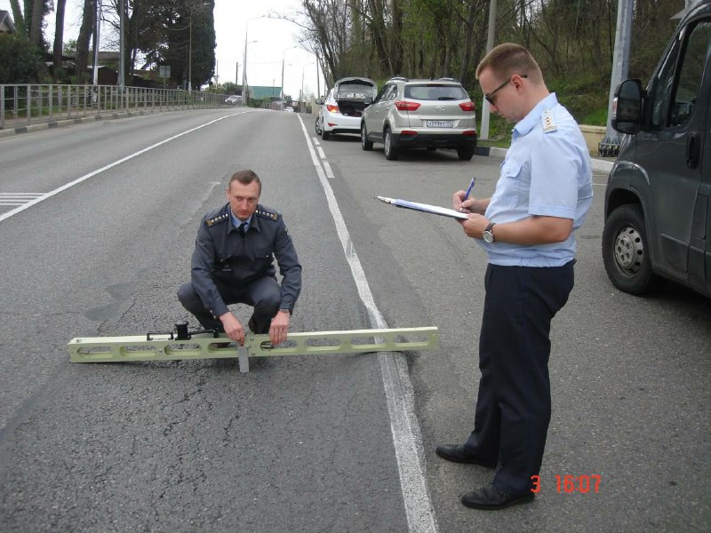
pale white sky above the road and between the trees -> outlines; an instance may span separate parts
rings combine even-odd
[[[76,38],[79,33],[83,4],[83,0],[67,0],[65,41]],[[300,5],[300,0],[215,0],[215,59],[219,83],[236,81],[237,63],[237,83],[242,83],[246,36],[247,79],[250,85],[281,85],[284,61],[284,94],[296,99],[302,86],[305,94],[316,94],[319,88],[324,94],[324,76],[320,70],[320,83],[316,81],[316,56],[299,46],[299,26],[288,20],[268,18],[270,14],[275,16],[277,13],[294,18],[300,12]],[[10,0],[0,0],[0,10],[12,13]],[[52,42],[53,12],[46,21],[45,38]],[[100,46],[100,50],[105,49]]]

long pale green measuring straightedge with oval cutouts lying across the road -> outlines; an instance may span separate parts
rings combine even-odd
[[[177,325],[177,324],[176,324]],[[249,372],[250,357],[310,354],[361,354],[433,350],[436,327],[388,330],[313,331],[289,333],[286,342],[272,346],[268,335],[248,333],[244,346],[230,342],[224,333],[148,333],[127,337],[72,338],[71,362],[175,361],[181,359],[239,358],[239,370]]]

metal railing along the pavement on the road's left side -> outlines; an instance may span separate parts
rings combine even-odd
[[[226,94],[116,85],[0,84],[0,130],[90,115],[220,107]]]

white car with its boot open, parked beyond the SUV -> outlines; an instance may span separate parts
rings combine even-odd
[[[335,133],[358,133],[361,115],[378,92],[378,84],[368,78],[342,78],[333,85],[326,99],[317,99],[321,106],[316,118],[316,134],[328,140]]]

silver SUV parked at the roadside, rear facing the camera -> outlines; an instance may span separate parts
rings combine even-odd
[[[391,161],[408,148],[451,148],[469,161],[476,147],[474,102],[451,78],[392,78],[363,110],[361,147],[371,150],[374,142]]]

